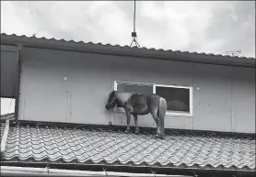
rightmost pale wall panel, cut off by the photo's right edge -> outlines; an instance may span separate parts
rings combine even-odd
[[[232,100],[233,131],[255,133],[255,70],[234,70]]]

